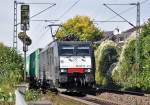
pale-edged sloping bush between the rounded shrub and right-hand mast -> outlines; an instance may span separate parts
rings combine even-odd
[[[123,46],[119,62],[113,70],[113,79],[123,87],[129,85],[134,71],[135,64],[135,34],[132,35]],[[131,77],[130,77],[131,76]],[[133,84],[133,83],[132,83]],[[131,85],[132,85],[131,84]]]

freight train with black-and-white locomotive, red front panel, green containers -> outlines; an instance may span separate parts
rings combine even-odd
[[[31,88],[93,88],[94,64],[92,42],[53,41],[27,57],[27,79]]]

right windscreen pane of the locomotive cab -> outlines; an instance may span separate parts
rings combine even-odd
[[[90,48],[84,47],[84,46],[79,46],[76,49],[76,54],[77,55],[90,55]]]

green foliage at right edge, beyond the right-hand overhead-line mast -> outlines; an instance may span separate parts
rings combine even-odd
[[[141,32],[141,64],[142,70],[139,78],[141,87],[150,92],[150,19],[142,27]]]

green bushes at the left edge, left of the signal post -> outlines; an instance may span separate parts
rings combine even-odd
[[[5,93],[3,95],[13,92],[14,86],[22,79],[22,66],[21,55],[0,43],[0,90]]]

